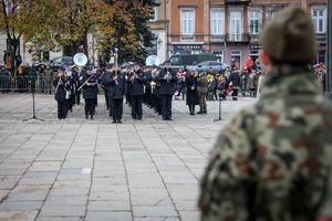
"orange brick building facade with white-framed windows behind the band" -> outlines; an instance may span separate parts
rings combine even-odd
[[[259,54],[258,36],[274,13],[303,7],[312,15],[318,36],[317,62],[325,62],[326,0],[169,0],[168,52],[211,52],[227,64],[245,66]]]

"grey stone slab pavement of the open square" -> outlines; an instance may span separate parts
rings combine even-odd
[[[56,119],[52,95],[0,95],[0,220],[196,221],[198,183],[222,124],[218,102],[189,116],[174,101],[174,120],[144,107],[144,119],[113,125],[103,96],[94,120],[83,105]],[[222,102],[222,118],[255,99]]]

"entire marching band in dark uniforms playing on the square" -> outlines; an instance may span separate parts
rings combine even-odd
[[[104,69],[92,65],[83,69],[85,64],[76,63],[59,67],[53,81],[59,119],[66,118],[73,106],[80,104],[81,93],[85,119],[93,119],[100,85],[105,93],[105,104],[113,124],[122,124],[124,98],[132,108],[133,119],[142,120],[145,104],[162,115],[164,120],[172,120],[172,98],[178,78],[169,64],[159,69],[135,63],[120,69],[116,63],[108,63]]]

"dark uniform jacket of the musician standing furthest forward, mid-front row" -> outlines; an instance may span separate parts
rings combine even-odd
[[[126,78],[122,73],[117,74],[116,81],[113,80],[114,76],[115,73],[112,72],[107,73],[107,75],[104,78],[104,84],[107,87],[107,95],[108,98],[122,99],[127,91]]]

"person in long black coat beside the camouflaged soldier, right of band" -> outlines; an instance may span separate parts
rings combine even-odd
[[[186,74],[185,84],[187,87],[187,102],[189,106],[189,115],[195,115],[195,106],[199,105],[198,91],[197,91],[197,78],[195,73]]]

